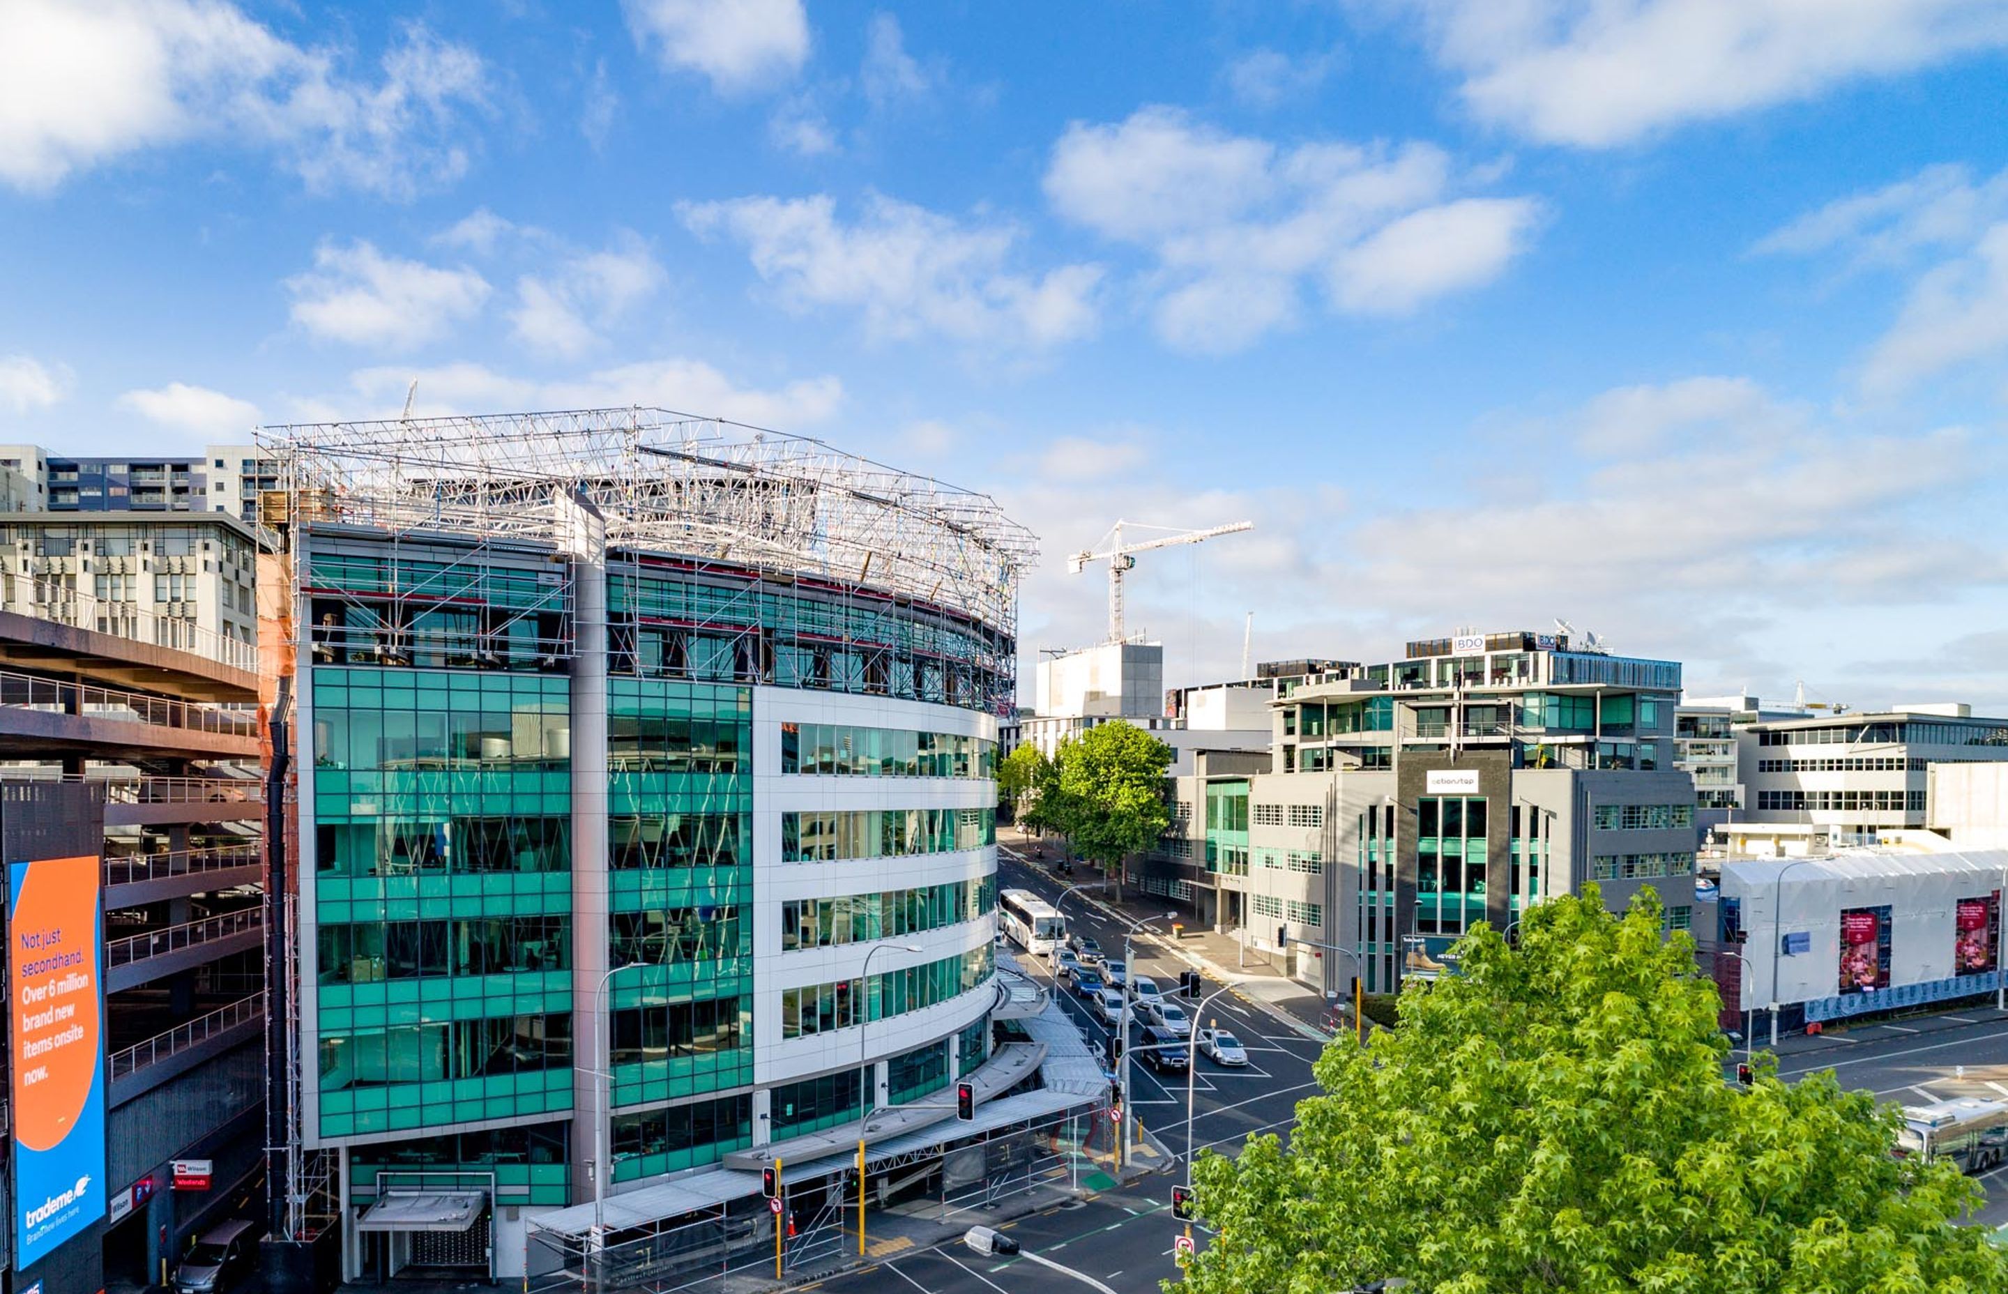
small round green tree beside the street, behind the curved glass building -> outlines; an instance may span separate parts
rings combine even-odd
[[[1151,848],[1171,826],[1171,747],[1135,723],[1110,719],[1064,741],[1054,764],[1068,842],[1114,880],[1120,902],[1122,858]]]

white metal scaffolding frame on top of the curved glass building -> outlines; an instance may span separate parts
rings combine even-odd
[[[608,549],[821,575],[1002,629],[1038,557],[988,494],[659,408],[287,424],[257,440],[303,522],[552,543],[544,504],[580,494]]]

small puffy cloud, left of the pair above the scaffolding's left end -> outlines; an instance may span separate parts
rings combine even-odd
[[[468,267],[442,269],[388,257],[371,243],[321,243],[313,271],[285,281],[293,321],[315,338],[351,346],[416,348],[474,315],[488,279]]]

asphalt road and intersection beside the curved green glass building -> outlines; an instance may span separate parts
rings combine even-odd
[[[1058,884],[1044,868],[1028,868],[1006,850],[998,850],[998,886],[1058,896]],[[1078,896],[1060,904],[1068,926],[1092,934],[1108,956],[1122,954],[1122,926],[1082,904]],[[1050,981],[1036,958],[1020,958],[1026,970]],[[1149,975],[1161,987],[1177,985],[1185,962],[1151,948],[1135,946],[1133,973]],[[1205,993],[1219,989],[1207,983]],[[1082,1025],[1096,1047],[1104,1045],[1108,1029],[1060,989],[1068,1013]],[[1193,1003],[1179,999],[1187,1009]],[[1247,1069],[1221,1069],[1199,1061],[1193,1077],[1193,1149],[1203,1147],[1233,1153],[1249,1133],[1287,1133],[1297,1101],[1315,1091],[1311,1061],[1319,1043],[1291,1031],[1273,1017],[1233,995],[1221,995],[1207,1009],[1207,1019],[1231,1029],[1249,1051]],[[1207,1023],[1203,1019],[1201,1023]],[[1185,1079],[1157,1073],[1145,1065],[1131,1071],[1131,1117],[1143,1119],[1157,1139],[1175,1155],[1185,1153]],[[1026,1250],[1100,1280],[1118,1294],[1157,1294],[1159,1282],[1179,1274],[1173,1262],[1173,1240],[1183,1224],[1171,1216],[1171,1185],[1183,1173],[1153,1173],[1126,1188],[1100,1192],[1086,1204],[1062,1206],[1010,1224],[1008,1234]],[[1203,1234],[1201,1234],[1203,1238]],[[890,1290],[926,1290],[930,1294],[956,1290],[968,1294],[1060,1294],[1084,1286],[1022,1258],[980,1258],[960,1242],[900,1254],[875,1266],[823,1282],[821,1290],[839,1294],[888,1294]]]

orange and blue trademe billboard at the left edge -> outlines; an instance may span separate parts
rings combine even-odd
[[[104,1216],[104,930],[98,860],[8,868],[14,1266]]]

